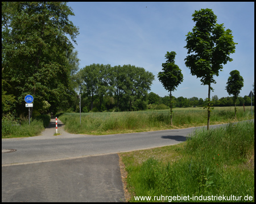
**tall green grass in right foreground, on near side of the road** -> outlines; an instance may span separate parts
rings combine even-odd
[[[131,156],[124,153],[130,192],[151,197],[254,197],[254,123],[200,130],[191,136],[184,148],[176,148],[183,155],[176,161],[164,163],[155,156],[142,164],[133,164],[129,162]]]

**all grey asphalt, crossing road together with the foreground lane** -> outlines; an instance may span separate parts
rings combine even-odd
[[[2,139],[2,202],[125,201],[116,153],[176,145],[195,129],[76,135],[58,121],[53,136],[52,119],[40,136]]]

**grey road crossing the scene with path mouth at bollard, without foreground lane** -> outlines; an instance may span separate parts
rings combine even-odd
[[[3,149],[14,149],[15,152],[2,154],[2,166],[12,164],[28,164],[60,159],[81,158],[92,155],[114,154],[152,147],[176,145],[184,142],[189,133],[197,128],[160,130],[144,133],[113,135],[81,135],[64,131],[63,124],[58,121],[56,133],[55,120],[42,135],[28,138],[2,139]],[[212,125],[217,128],[220,125]],[[203,128],[206,128],[205,126]]]

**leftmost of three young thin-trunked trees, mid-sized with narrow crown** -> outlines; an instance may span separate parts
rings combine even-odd
[[[181,82],[183,82],[183,74],[181,74],[181,70],[179,66],[175,65],[175,55],[176,52],[167,52],[165,55],[167,61],[166,63],[162,63],[163,71],[158,73],[158,79],[163,84],[164,88],[167,91],[170,91],[170,99],[171,99],[171,125],[172,125],[172,91],[176,90],[176,87],[179,86]]]

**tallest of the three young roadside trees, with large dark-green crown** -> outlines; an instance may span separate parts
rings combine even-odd
[[[192,75],[201,78],[203,85],[208,86],[208,121],[210,122],[210,87],[216,83],[214,75],[218,76],[223,64],[232,61],[230,54],[235,52],[236,42],[233,41],[232,31],[224,29],[224,24],[217,24],[217,16],[209,8],[195,11],[192,20],[196,22],[192,32],[188,32],[188,56],[184,59],[185,65],[191,70]]]

